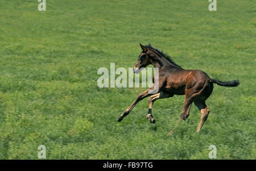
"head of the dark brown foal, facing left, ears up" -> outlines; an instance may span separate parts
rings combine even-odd
[[[146,68],[147,65],[151,64],[150,56],[148,54],[149,49],[141,43],[139,45],[141,45],[142,52],[139,54],[139,59],[133,67],[133,72],[135,74],[138,74],[142,68]]]

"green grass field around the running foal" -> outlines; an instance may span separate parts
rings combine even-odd
[[[0,2],[0,159],[256,159],[255,1],[36,0]],[[99,88],[98,68],[133,67],[139,43],[163,49],[184,69],[200,69],[234,88],[214,86],[200,112],[172,136],[184,96],[147,99],[117,117],[146,88]]]

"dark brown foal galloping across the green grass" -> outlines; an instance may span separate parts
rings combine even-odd
[[[208,76],[207,73],[201,70],[183,69],[179,65],[175,64],[170,56],[164,54],[156,48],[153,48],[150,44],[145,46],[142,44],[140,45],[142,52],[139,55],[137,63],[134,65],[133,72],[139,73],[141,68],[145,68],[150,64],[152,64],[154,68],[159,68],[158,90],[156,90],[157,92],[155,94],[149,93],[150,90],[155,88],[154,86],[156,82],[154,79],[154,86],[144,91],[143,93],[140,93],[135,101],[123,112],[122,115],[118,117],[118,122],[127,116],[139,101],[150,96],[148,99],[147,119],[150,120],[151,123],[155,123],[151,109],[153,103],[157,99],[169,98],[173,97],[174,95],[185,95],[183,110],[179,120],[185,120],[188,118],[191,104],[194,102],[201,112],[200,123],[196,129],[196,132],[199,132],[205,120],[207,120],[210,112],[207,105],[205,104],[205,101],[210,96],[210,94],[212,94],[213,83],[226,87],[235,87],[240,84],[238,80],[218,81],[212,79]],[[171,133],[172,131],[170,134]]]

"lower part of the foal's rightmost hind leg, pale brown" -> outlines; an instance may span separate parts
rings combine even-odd
[[[201,128],[203,127],[204,122],[207,120],[210,110],[205,105],[205,101],[195,101],[195,105],[201,112],[200,123],[196,129],[196,132],[199,132],[201,130]]]

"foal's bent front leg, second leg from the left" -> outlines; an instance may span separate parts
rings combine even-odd
[[[157,99],[161,99],[161,98],[168,98],[168,97],[172,97],[174,96],[173,94],[168,94],[168,93],[163,93],[163,91],[161,91],[158,94],[155,95],[151,95],[151,97],[148,99],[148,114],[147,114],[147,119],[151,122],[151,123],[155,123],[155,119],[152,116],[152,105],[153,103],[157,100]]]

